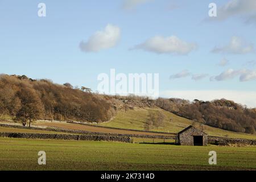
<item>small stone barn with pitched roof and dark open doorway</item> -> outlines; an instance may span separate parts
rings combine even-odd
[[[177,134],[181,146],[207,146],[207,134],[204,131],[189,126]]]

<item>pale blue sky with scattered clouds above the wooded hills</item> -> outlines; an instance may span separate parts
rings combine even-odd
[[[255,0],[0,0],[0,73],[93,91],[110,69],[159,73],[160,97],[256,107],[255,30]]]

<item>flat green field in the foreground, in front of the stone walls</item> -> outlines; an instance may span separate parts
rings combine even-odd
[[[217,152],[217,165],[208,152]],[[46,151],[45,166],[38,151]],[[0,170],[255,170],[256,147],[0,138]]]

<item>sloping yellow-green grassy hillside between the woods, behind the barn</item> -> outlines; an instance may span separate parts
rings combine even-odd
[[[168,133],[177,133],[185,127],[192,125],[192,121],[183,117],[179,117],[168,111],[162,109],[134,109],[128,111],[118,111],[117,115],[109,122],[101,123],[101,126],[117,127],[122,129],[135,129],[144,130],[144,123],[147,121],[149,112],[160,111],[166,117],[164,119],[164,126],[159,129],[152,129],[151,131],[163,131]],[[170,121],[172,119],[172,121]],[[217,137],[230,137],[230,138],[246,138],[256,139],[256,135],[237,133],[233,131],[222,130],[214,127],[204,125],[205,133]]]

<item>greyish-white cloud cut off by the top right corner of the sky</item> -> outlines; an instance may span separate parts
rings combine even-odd
[[[214,19],[225,20],[232,16],[247,16],[250,18],[255,13],[255,0],[231,0],[217,10],[217,17]]]

